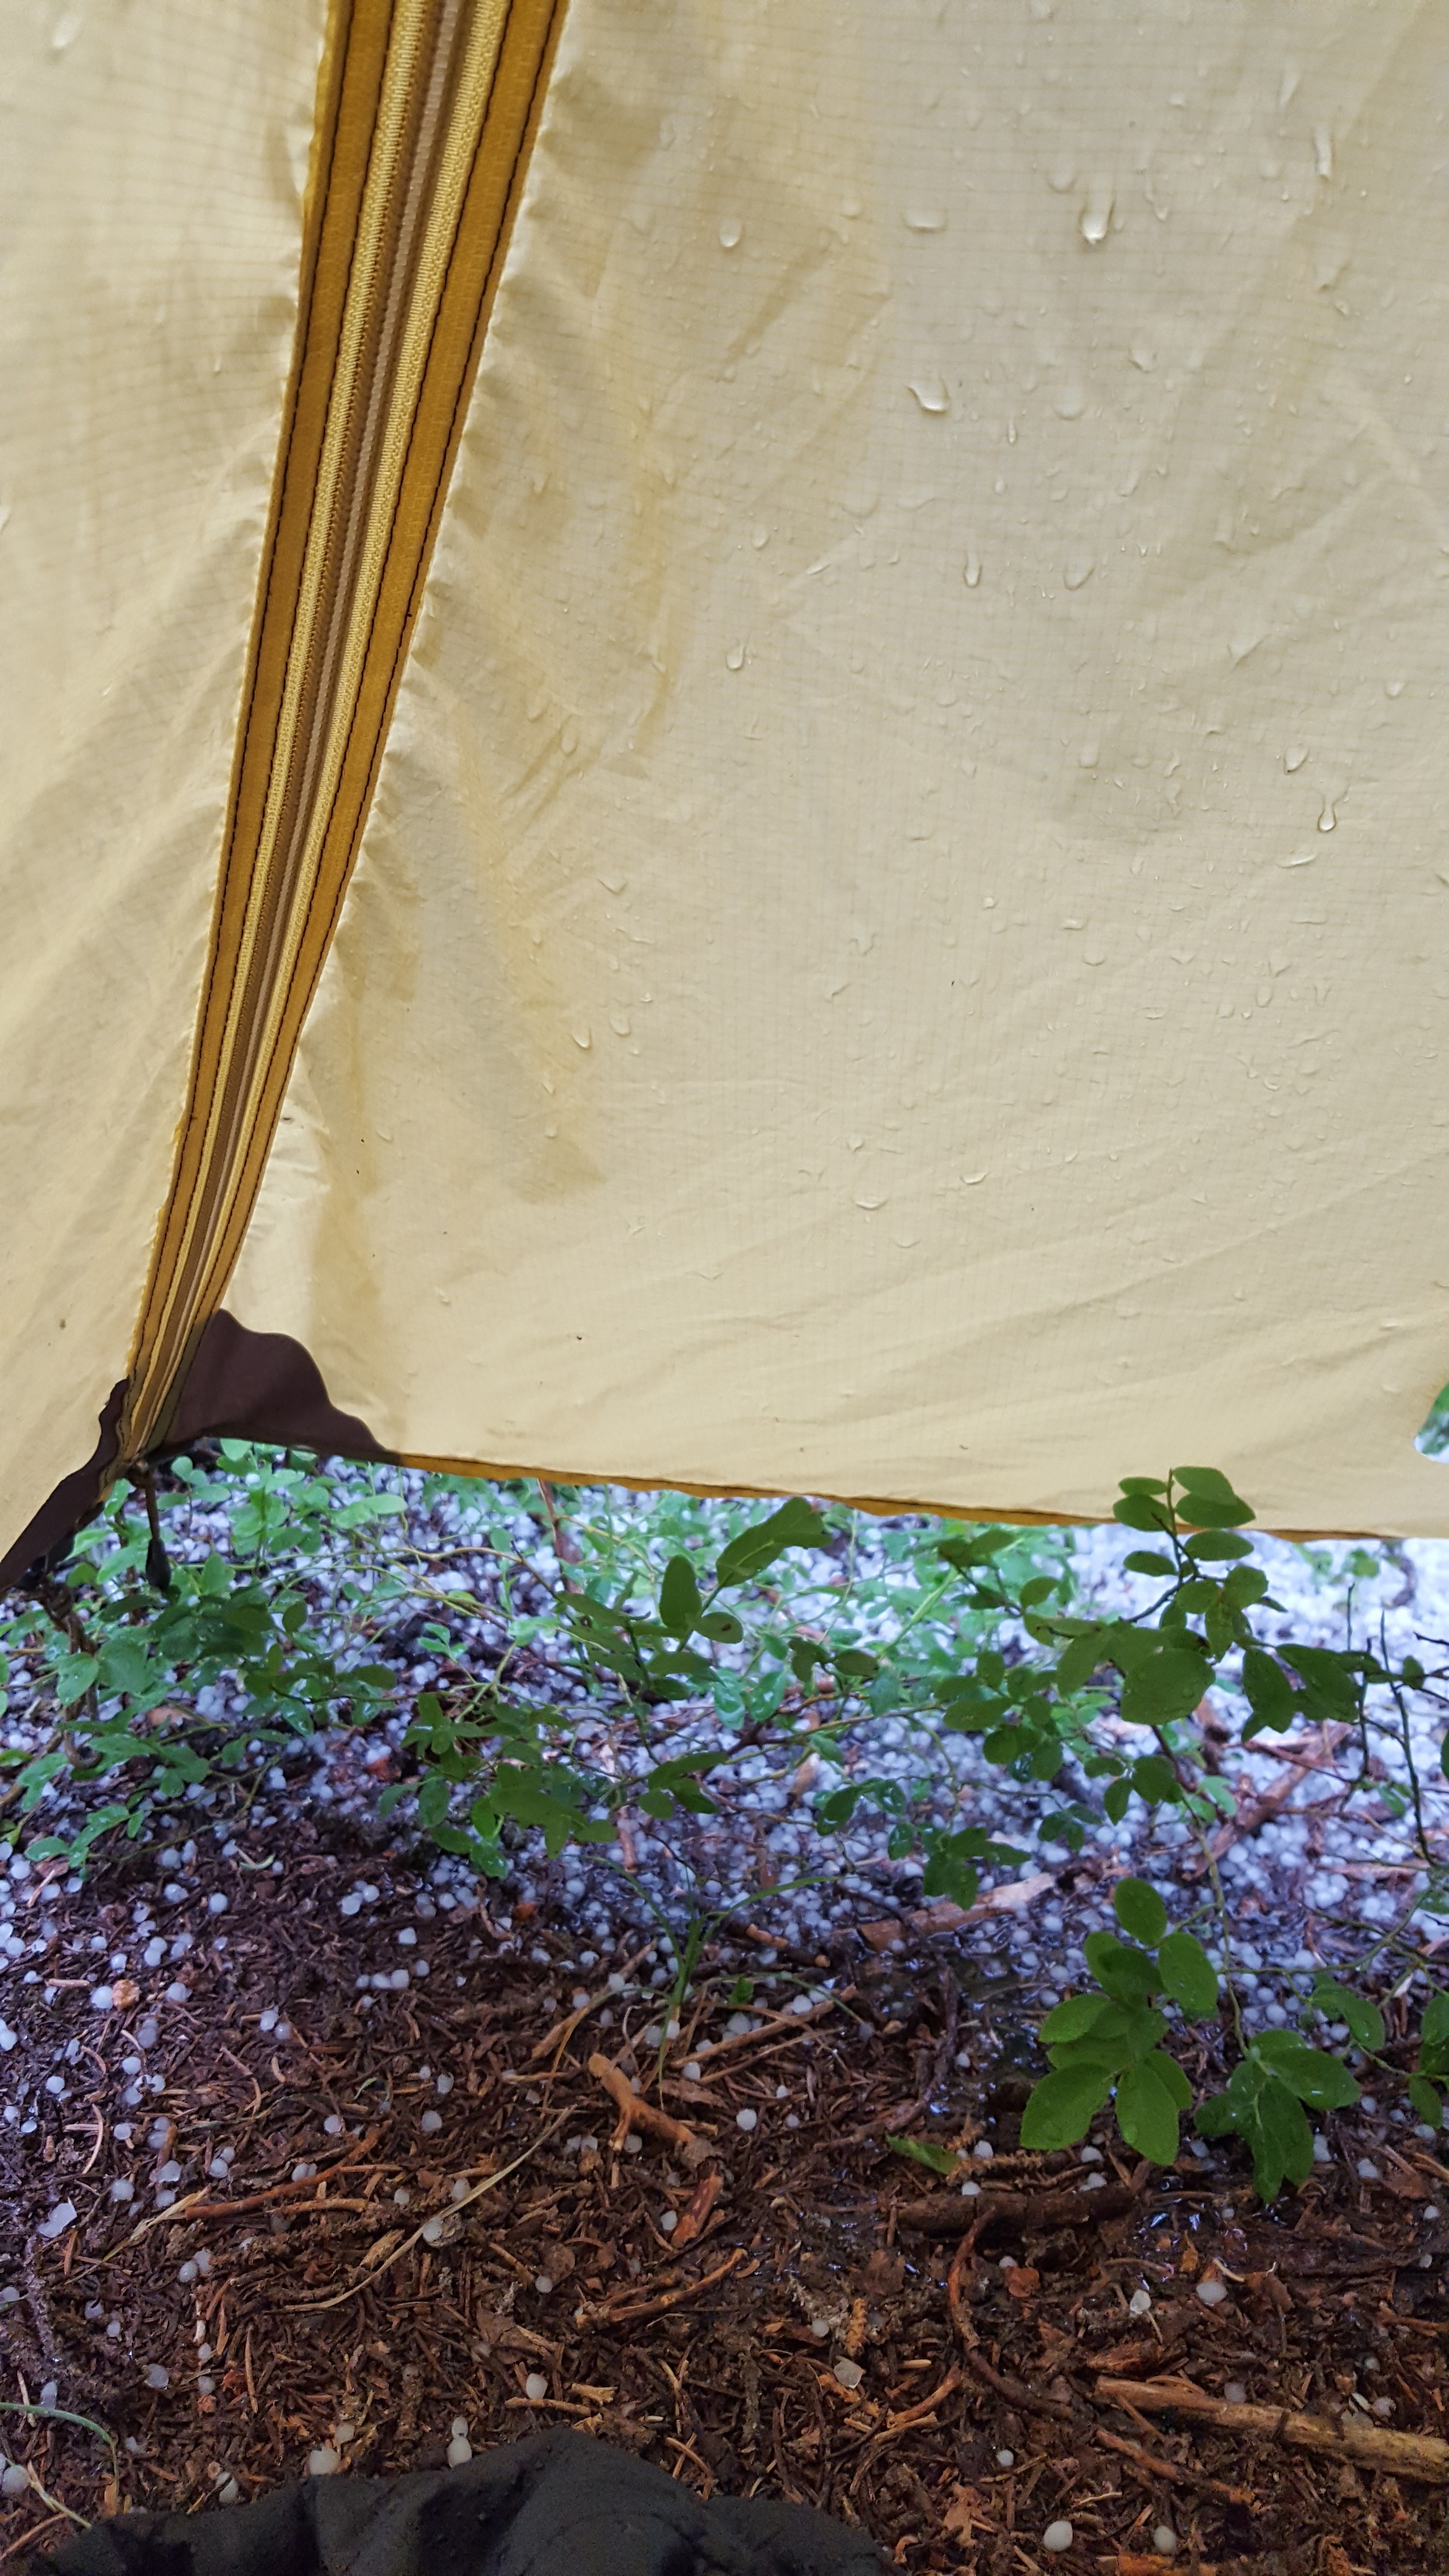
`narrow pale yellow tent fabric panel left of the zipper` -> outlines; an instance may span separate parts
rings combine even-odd
[[[0,1548],[95,1445],[168,1193],[322,18],[5,10]]]

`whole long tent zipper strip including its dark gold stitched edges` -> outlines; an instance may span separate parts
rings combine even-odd
[[[335,0],[188,1103],[113,1473],[165,1443],[356,863],[562,0]]]

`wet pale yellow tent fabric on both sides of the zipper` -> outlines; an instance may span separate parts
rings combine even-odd
[[[320,28],[57,44],[15,1528],[186,1105]],[[413,1458],[1449,1533],[1446,111],[1413,0],[570,0],[229,1314]]]

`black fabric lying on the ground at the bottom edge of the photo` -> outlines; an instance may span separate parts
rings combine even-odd
[[[714,2496],[580,2432],[467,2468],[307,2478],[258,2504],[95,2522],[26,2576],[882,2576],[804,2504]]]

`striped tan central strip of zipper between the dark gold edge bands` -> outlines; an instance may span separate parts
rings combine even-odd
[[[508,0],[397,0],[351,247],[335,374],[286,652],[260,837],[201,1149],[170,1273],[157,1270],[124,1455],[144,1453],[188,1337],[224,1280],[227,1216],[317,891],[413,415],[469,188]],[[165,1255],[162,1255],[165,1262]]]

